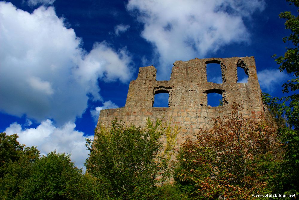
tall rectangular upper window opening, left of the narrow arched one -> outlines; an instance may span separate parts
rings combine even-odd
[[[222,83],[220,61],[207,62],[207,81],[219,84]]]

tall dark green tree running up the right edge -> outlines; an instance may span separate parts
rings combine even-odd
[[[298,0],[286,0],[290,5],[299,8]],[[268,105],[274,114],[279,125],[279,136],[286,149],[285,159],[288,165],[284,168],[283,186],[281,193],[299,194],[299,10],[296,15],[291,12],[280,13],[279,17],[285,19],[286,29],[291,34],[283,38],[284,43],[288,43],[283,56],[275,59],[280,65],[280,71],[286,70],[292,74],[293,78],[283,84],[283,93],[286,97],[271,98],[268,94],[263,95],[263,101]],[[291,44],[292,43],[292,44]],[[276,55],[273,57],[275,58]]]

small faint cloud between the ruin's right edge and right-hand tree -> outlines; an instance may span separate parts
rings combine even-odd
[[[261,89],[266,92],[273,92],[280,87],[286,80],[290,79],[289,75],[280,70],[276,69],[265,69],[257,72],[257,77],[259,79],[259,83]]]

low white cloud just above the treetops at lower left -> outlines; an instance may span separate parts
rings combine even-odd
[[[37,145],[42,155],[55,150],[57,153],[71,154],[71,160],[85,171],[83,163],[89,153],[85,139],[93,139],[93,136],[85,137],[84,133],[75,130],[75,127],[72,122],[65,123],[61,128],[55,127],[52,121],[47,119],[36,128],[22,129],[22,125],[15,122],[4,132],[7,135],[17,133],[20,144],[28,147]]]

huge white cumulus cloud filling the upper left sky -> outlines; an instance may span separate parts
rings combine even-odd
[[[61,126],[85,111],[89,97],[102,100],[98,78],[130,79],[126,49],[99,42],[85,52],[81,43],[53,7],[28,13],[0,2],[0,110]]]

